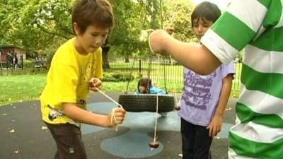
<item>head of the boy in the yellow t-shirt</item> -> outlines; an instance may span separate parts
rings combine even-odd
[[[101,47],[115,23],[107,0],[76,0],[71,18],[77,38],[75,47],[82,54]]]

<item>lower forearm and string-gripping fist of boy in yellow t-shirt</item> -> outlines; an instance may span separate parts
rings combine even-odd
[[[69,102],[64,102],[62,104],[62,107],[67,117],[71,119],[74,119],[84,124],[91,124],[103,127],[111,127],[117,124],[122,124],[126,114],[123,108],[117,107],[114,113],[116,122],[114,121],[113,123],[111,123],[112,112],[110,112],[108,115],[95,114],[92,112],[88,112],[87,110],[83,110],[80,107],[77,107],[75,103]]]

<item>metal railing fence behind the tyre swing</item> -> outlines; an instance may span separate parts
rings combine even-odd
[[[110,62],[110,69],[105,72],[121,71],[132,73],[135,77],[149,76],[152,81],[166,81],[167,83],[183,84],[183,66],[170,60],[130,60]],[[241,63],[235,62],[236,74],[233,80],[231,96],[238,98],[240,90]]]

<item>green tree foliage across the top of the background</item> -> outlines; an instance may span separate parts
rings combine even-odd
[[[18,45],[27,54],[47,53],[74,36],[71,9],[74,0],[0,0],[0,45]],[[110,0],[115,28],[108,37],[111,57],[146,57],[147,41],[142,30],[173,26],[174,37],[190,41],[190,13],[187,0]],[[115,58],[113,58],[115,59]]]

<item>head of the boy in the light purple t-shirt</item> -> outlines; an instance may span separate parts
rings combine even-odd
[[[221,16],[220,9],[208,1],[198,4],[192,11],[192,30],[200,38],[207,32],[212,24]]]

